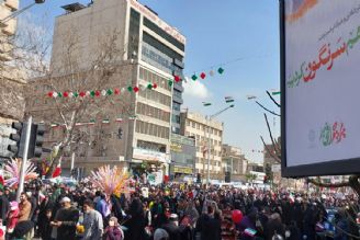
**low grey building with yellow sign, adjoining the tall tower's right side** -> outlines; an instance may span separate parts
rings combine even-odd
[[[194,137],[171,134],[171,164],[170,179],[184,181],[192,178],[195,171],[196,147]]]

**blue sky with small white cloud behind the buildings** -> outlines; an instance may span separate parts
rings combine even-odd
[[[61,5],[90,0],[46,0],[26,13],[34,22],[53,30]],[[21,8],[33,0],[22,0]],[[261,162],[260,136],[270,142],[263,110],[247,95],[280,113],[267,90],[280,89],[279,1],[275,0],[139,0],[176,26],[185,37],[185,76],[198,76],[222,67],[223,75],[189,80],[182,108],[213,115],[225,108],[225,96],[235,99],[235,107],[216,119],[224,123],[224,144],[239,147],[246,158]],[[24,14],[24,15],[26,15]],[[278,101],[279,96],[275,96]],[[204,107],[202,102],[211,102]],[[268,114],[273,135],[279,136],[280,118]]]

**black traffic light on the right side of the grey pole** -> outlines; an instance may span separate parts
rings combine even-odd
[[[45,125],[33,124],[30,135],[27,158],[40,158],[43,153]]]

